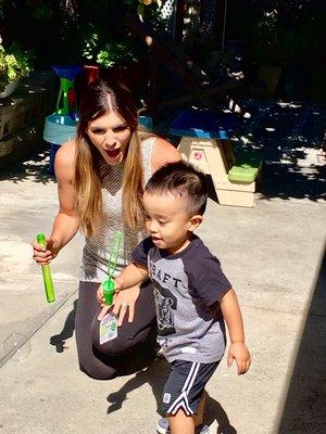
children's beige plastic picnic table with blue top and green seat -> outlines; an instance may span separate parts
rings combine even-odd
[[[181,137],[183,158],[211,175],[221,205],[254,207],[261,158],[252,152],[236,158],[229,139],[238,123],[231,113],[186,111],[171,124],[170,132]]]

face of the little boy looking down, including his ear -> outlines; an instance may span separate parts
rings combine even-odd
[[[189,216],[187,200],[181,196],[143,193],[146,227],[153,243],[170,253],[183,251],[191,232],[200,225],[201,216]]]

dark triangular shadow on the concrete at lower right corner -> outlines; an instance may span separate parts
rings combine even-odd
[[[326,433],[326,253],[289,384],[278,434]]]

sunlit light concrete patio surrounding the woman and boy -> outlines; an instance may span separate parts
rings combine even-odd
[[[52,263],[58,302],[46,303],[29,240],[49,232],[57,212],[48,157],[39,154],[0,181],[0,432],[154,433],[163,360],[110,382],[78,370],[73,333],[82,237]],[[304,167],[299,171],[304,192]],[[258,193],[253,209],[210,200],[198,232],[238,292],[253,358],[240,378],[223,360],[209,383],[214,434],[326,432],[325,182],[315,177],[309,195],[298,196],[296,182],[268,175],[273,194]],[[22,362],[10,357],[14,331],[30,346]]]

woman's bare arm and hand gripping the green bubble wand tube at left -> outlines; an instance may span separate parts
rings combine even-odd
[[[76,234],[79,228],[75,209],[75,142],[63,144],[55,155],[55,177],[58,181],[59,212],[54,219],[51,235],[47,239],[47,248],[33,241],[34,259],[48,264]]]

